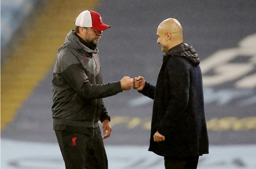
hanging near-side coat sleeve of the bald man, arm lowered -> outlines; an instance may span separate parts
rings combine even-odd
[[[182,120],[188,105],[189,71],[186,63],[179,59],[169,59],[166,78],[169,81],[170,100],[162,120],[157,125],[157,131],[163,136],[168,136],[175,123]]]

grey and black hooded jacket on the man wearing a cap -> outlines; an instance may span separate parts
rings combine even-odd
[[[53,124],[96,128],[99,120],[110,120],[102,98],[123,90],[120,81],[102,84],[97,53],[79,41],[75,30],[68,33],[53,71]]]

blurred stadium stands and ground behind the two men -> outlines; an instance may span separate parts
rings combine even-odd
[[[74,20],[95,10],[112,27],[98,44],[104,83],[143,76],[152,84],[164,55],[159,23],[175,18],[203,72],[210,154],[199,169],[256,168],[256,1],[2,0],[1,168],[64,169],[52,130],[56,52]],[[160,169],[148,152],[152,100],[135,90],[105,98],[110,169]]]

